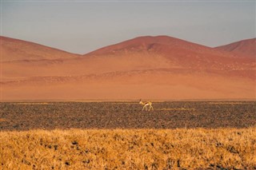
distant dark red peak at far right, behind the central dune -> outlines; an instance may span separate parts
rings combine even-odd
[[[228,45],[221,45],[216,47],[215,49],[229,51],[241,57],[256,58],[256,38],[233,42]]]

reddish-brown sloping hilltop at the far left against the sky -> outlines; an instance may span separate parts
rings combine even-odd
[[[54,49],[34,42],[0,36],[2,61],[56,60],[78,57],[60,49]]]

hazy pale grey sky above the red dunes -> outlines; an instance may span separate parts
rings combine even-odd
[[[144,35],[207,46],[256,37],[254,0],[0,1],[2,36],[71,53]]]

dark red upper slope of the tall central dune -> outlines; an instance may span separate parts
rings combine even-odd
[[[162,61],[172,67],[186,69],[226,69],[230,65],[240,67],[241,65],[235,63],[242,60],[233,53],[168,36],[138,37],[97,49],[84,56],[115,56],[118,60],[120,57],[137,56],[137,60],[143,60],[142,62],[147,62],[147,58],[152,60],[151,57],[160,56],[164,57]]]

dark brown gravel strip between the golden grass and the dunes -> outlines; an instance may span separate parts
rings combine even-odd
[[[247,128],[255,101],[1,102],[0,131],[67,128]]]

